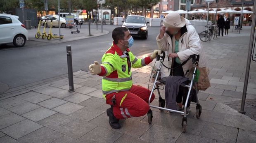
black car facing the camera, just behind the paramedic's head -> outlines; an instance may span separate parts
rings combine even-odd
[[[122,27],[127,27],[130,31],[130,35],[133,37],[143,37],[147,39],[148,28],[144,16],[129,15],[123,21]]]

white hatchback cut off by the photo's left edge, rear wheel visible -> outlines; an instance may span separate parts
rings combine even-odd
[[[28,30],[19,21],[19,16],[0,14],[0,44],[13,43],[22,47],[28,40]]]

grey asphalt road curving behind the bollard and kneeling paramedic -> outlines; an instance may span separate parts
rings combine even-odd
[[[93,61],[101,61],[104,51],[112,43],[111,31],[116,27],[104,25],[104,30],[109,30],[107,35],[61,44],[27,41],[22,48],[15,48],[12,44],[2,45],[0,46],[0,82],[9,85],[9,88],[14,88],[66,74],[67,45],[72,46],[73,71],[88,70],[88,66]],[[92,28],[96,29],[95,25],[92,25]],[[151,53],[157,48],[158,33],[159,27],[149,27],[148,39],[135,38],[130,50],[137,56]]]

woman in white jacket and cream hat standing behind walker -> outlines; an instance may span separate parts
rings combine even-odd
[[[208,67],[204,50],[201,45],[199,35],[191,23],[180,16],[178,13],[170,13],[166,16],[161,27],[156,42],[161,51],[168,51],[169,67],[178,67],[183,61],[187,60],[190,55],[200,55],[199,67]],[[183,66],[172,70],[173,76],[185,76],[189,79],[192,77],[193,67],[192,59],[187,61]],[[187,88],[180,87],[176,97],[177,109],[182,110],[187,97]],[[190,101],[187,104],[187,115],[190,113]]]

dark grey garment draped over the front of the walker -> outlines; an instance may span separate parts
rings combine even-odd
[[[168,76],[165,83],[166,108],[177,110],[176,96],[179,93],[180,85],[187,85],[189,79],[184,76]]]

